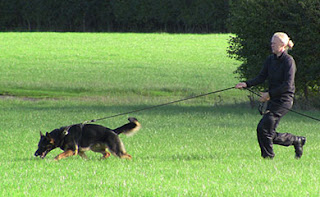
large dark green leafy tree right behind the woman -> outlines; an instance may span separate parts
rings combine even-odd
[[[297,64],[297,93],[320,94],[320,0],[237,0],[230,5],[228,54],[243,61],[235,71],[241,80],[258,74],[270,54],[274,32],[286,32],[295,43],[289,53]]]

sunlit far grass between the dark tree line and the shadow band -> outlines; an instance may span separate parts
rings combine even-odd
[[[230,87],[239,62],[227,58],[229,36],[2,33],[0,93],[149,97]]]

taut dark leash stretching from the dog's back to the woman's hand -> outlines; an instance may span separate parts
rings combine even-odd
[[[199,94],[199,95],[196,95],[196,96],[190,96],[190,97],[187,97],[187,98],[171,101],[171,102],[168,102],[168,103],[154,105],[154,106],[151,106],[151,107],[137,109],[137,110],[133,110],[133,111],[129,111],[129,112],[123,112],[123,113],[119,113],[119,114],[115,114],[115,115],[111,115],[111,116],[106,116],[106,117],[103,117],[103,118],[88,120],[88,121],[84,121],[82,124],[87,124],[87,123],[91,123],[91,122],[96,122],[96,121],[100,121],[100,120],[114,118],[114,117],[117,117],[117,116],[123,116],[123,115],[126,115],[126,114],[131,114],[131,113],[136,113],[136,112],[145,111],[145,110],[149,110],[149,109],[154,109],[154,108],[158,108],[158,107],[162,107],[162,106],[166,106],[166,105],[171,105],[171,104],[174,104],[174,103],[178,103],[178,102],[182,102],[182,101],[186,101],[186,100],[190,100],[190,99],[195,99],[195,98],[199,98],[199,97],[203,97],[203,96],[208,96],[210,94],[216,94],[216,93],[219,93],[219,92],[224,92],[224,91],[227,91],[227,90],[231,90],[233,88],[234,87],[225,88],[225,89],[216,90],[216,91],[213,91],[213,92],[208,92],[208,93],[205,93],[205,94]]]

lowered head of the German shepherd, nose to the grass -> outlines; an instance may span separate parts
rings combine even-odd
[[[46,135],[43,135],[40,131],[38,150],[34,153],[34,156],[40,156],[40,158],[43,159],[54,148],[56,148],[56,146],[50,134],[47,132]]]

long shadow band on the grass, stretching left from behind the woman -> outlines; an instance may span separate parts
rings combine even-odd
[[[257,108],[251,108],[248,103],[238,104],[221,104],[221,105],[210,105],[210,104],[170,104],[170,105],[108,105],[104,103],[76,103],[76,102],[63,102],[53,101],[54,104],[44,103],[38,105],[37,103],[29,103],[30,105],[22,104],[15,105],[14,107],[19,110],[25,110],[31,112],[44,112],[50,114],[51,112],[58,112],[67,116],[73,117],[72,124],[81,123],[84,121],[90,121],[92,119],[109,119],[120,116],[175,116],[175,115],[199,115],[199,116],[221,116],[234,115],[257,115],[260,116]],[[12,109],[12,106],[11,106]],[[317,116],[317,112],[304,112],[311,116]],[[94,114],[94,115],[92,115]],[[291,113],[294,114],[294,113]],[[294,114],[294,116],[299,117]],[[138,118],[137,117],[137,118]],[[308,119],[306,119],[308,120]],[[310,120],[312,121],[312,120]]]

